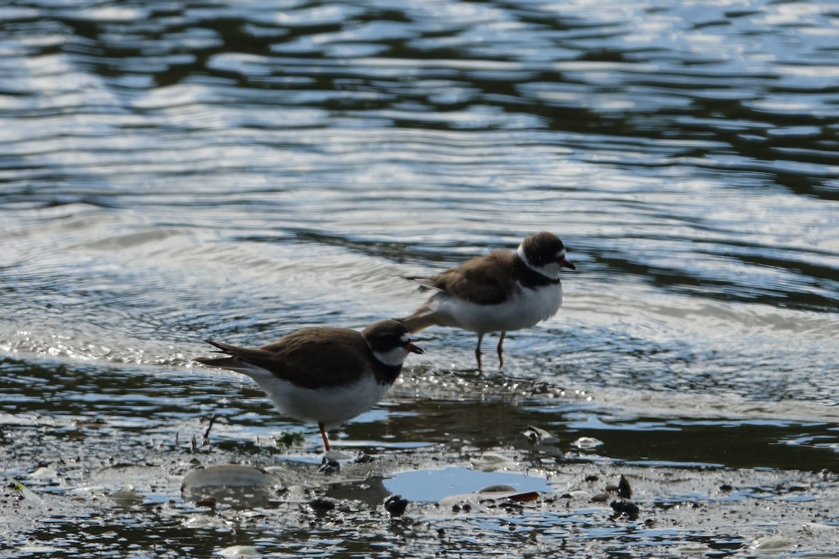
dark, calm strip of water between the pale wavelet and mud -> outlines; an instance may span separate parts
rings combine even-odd
[[[220,449],[234,461],[239,455],[260,456],[266,463],[320,460],[316,427],[279,416],[243,378],[56,361],[0,365],[3,453],[13,474],[29,474],[59,458],[84,457],[80,465],[95,468],[114,460],[146,463],[149,452],[167,450]],[[547,386],[425,368],[409,369],[406,376],[382,406],[348,422],[333,445],[351,454],[436,447],[441,456],[470,448],[517,448],[534,468],[608,459],[809,471],[831,468],[839,446],[836,410],[804,402],[655,396],[608,387],[564,391],[557,387],[561,380]],[[529,426],[555,439],[534,443],[526,434]],[[289,432],[303,432],[305,443],[283,454]],[[574,444],[580,437],[603,444],[580,449]],[[44,448],[50,452],[44,454]]]

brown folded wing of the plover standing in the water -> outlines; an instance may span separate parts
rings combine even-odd
[[[492,251],[430,280],[436,288],[457,298],[480,305],[497,304],[519,289],[517,274],[511,273],[518,258],[515,252]]]

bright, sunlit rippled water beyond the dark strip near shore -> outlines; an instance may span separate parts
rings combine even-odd
[[[696,346],[701,369],[830,382],[824,7],[26,5],[3,51],[8,351],[187,365],[207,334],[359,327],[416,303],[399,275],[545,229],[580,269],[514,334],[523,358],[570,333],[598,368]]]

